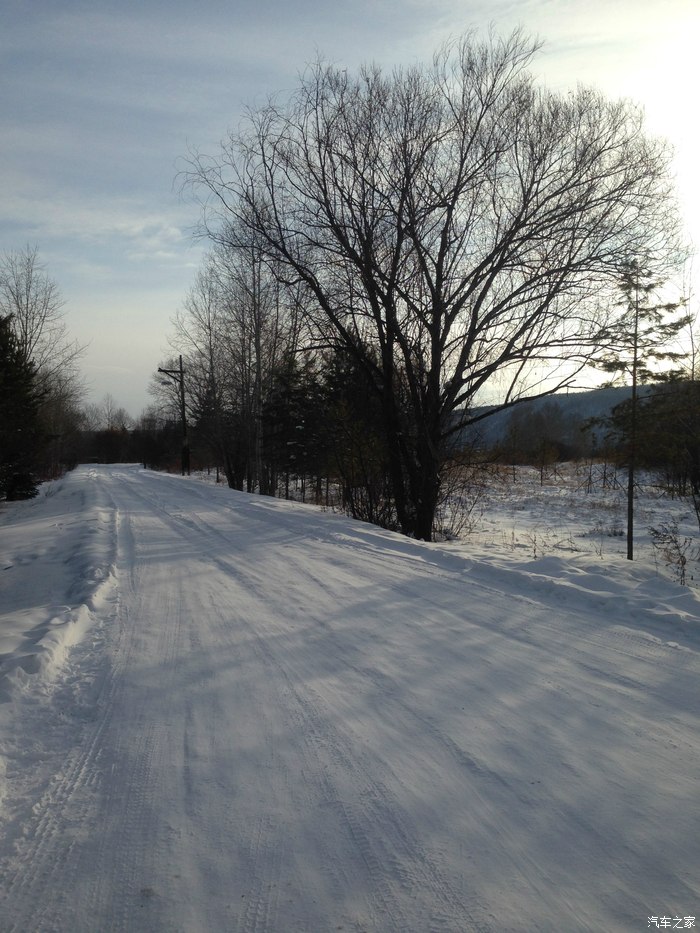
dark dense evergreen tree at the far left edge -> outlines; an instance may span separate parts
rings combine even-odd
[[[37,494],[40,401],[36,370],[17,342],[10,317],[0,317],[0,499]]]

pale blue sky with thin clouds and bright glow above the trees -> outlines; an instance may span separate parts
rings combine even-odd
[[[207,249],[179,181],[192,148],[216,153],[245,107],[290,92],[319,54],[410,65],[489,25],[543,41],[531,70],[550,88],[644,107],[700,244],[697,0],[3,0],[0,254],[38,247],[87,346],[86,401],[109,394],[138,417],[172,353]]]

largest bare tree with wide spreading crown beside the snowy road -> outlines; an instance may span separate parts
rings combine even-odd
[[[499,380],[504,407],[572,384],[622,257],[673,243],[665,145],[629,102],[536,86],[536,51],[517,31],[390,75],[318,62],[192,158],[205,231],[255,244],[370,374],[398,524],[419,538],[480,393]]]

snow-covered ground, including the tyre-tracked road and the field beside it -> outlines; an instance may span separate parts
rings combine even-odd
[[[688,928],[692,510],[630,563],[621,490],[516,478],[442,544],[138,467],[3,506],[2,933]]]

